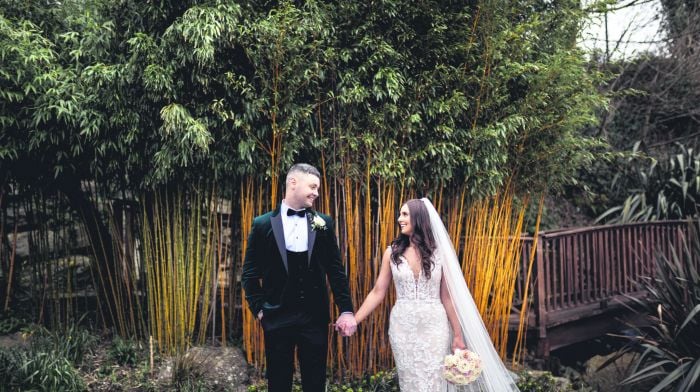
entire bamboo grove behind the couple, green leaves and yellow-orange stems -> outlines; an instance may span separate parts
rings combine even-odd
[[[3,2],[0,305],[168,353],[241,336],[262,367],[238,271],[253,217],[307,162],[356,304],[401,203],[427,196],[511,355],[526,200],[600,156],[584,17],[541,0]],[[390,366],[392,301],[331,334],[336,375]]]

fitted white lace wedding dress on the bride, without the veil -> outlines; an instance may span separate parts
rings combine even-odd
[[[423,269],[416,277],[401,257],[391,263],[396,287],[396,304],[389,318],[389,341],[394,353],[399,386],[403,392],[446,390],[441,365],[449,353],[452,338],[445,307],[440,300],[442,265],[435,265],[428,279]]]

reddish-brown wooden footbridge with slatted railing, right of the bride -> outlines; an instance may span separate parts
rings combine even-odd
[[[528,336],[537,356],[634,323],[625,306],[640,297],[637,283],[654,270],[654,258],[682,249],[688,222],[658,221],[541,232],[522,239],[522,266],[510,328],[517,329],[533,244]],[[537,241],[535,241],[535,239]]]

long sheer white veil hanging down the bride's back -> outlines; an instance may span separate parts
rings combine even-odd
[[[483,373],[476,381],[461,387],[448,384],[448,391],[518,391],[515,381],[493,346],[491,337],[481,319],[481,314],[467,288],[457,253],[452,246],[447,229],[440,219],[440,214],[435,210],[430,200],[426,198],[421,200],[428,209],[430,225],[437,246],[435,253],[442,260],[443,278],[447,283],[450,298],[462,328],[464,343],[467,345],[467,349],[479,354],[483,363]]]

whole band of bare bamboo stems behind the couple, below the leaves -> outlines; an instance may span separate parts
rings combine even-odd
[[[324,171],[324,166],[321,169]],[[398,233],[396,218],[401,204],[427,194],[441,212],[462,257],[465,279],[497,348],[505,355],[523,220],[523,210],[515,207],[512,194],[503,192],[490,199],[470,201],[467,190],[440,185],[417,194],[404,188],[401,181],[385,181],[372,175],[368,167],[359,173],[335,178],[322,173],[323,193],[317,204],[319,210],[336,218],[335,234],[355,305],[359,306],[371,290],[381,255]],[[33,200],[32,205],[23,208],[34,214],[30,219],[40,226],[30,236],[32,255],[27,263],[35,319],[56,320],[58,324],[96,310],[103,314],[102,319],[117,321],[115,331],[119,335],[151,335],[166,353],[202,343],[208,328],[213,338],[220,329],[225,343],[227,322],[233,320],[233,309],[240,303],[229,302],[231,311],[226,312],[224,284],[217,273],[222,273],[221,265],[232,249],[237,251],[235,259],[239,265],[242,263],[252,219],[267,211],[272,203],[269,186],[269,181],[254,177],[241,180],[234,193],[236,199],[230,201],[229,213],[236,221],[229,220],[227,224],[220,218],[221,200],[214,191],[202,191],[201,187],[145,195],[141,198],[140,214],[133,202],[118,205],[95,193],[93,202],[108,223],[113,243],[111,247],[92,244],[93,257],[88,262],[72,255],[75,241],[66,240],[76,233],[84,236],[80,234],[84,226],[75,225],[79,219],[65,215],[61,222],[73,224],[60,229],[65,232],[57,231],[61,225],[56,219],[46,219],[52,214],[61,216],[60,209],[53,207],[57,202]],[[240,230],[233,230],[234,227]],[[225,246],[222,237],[231,233],[235,245]],[[94,268],[99,268],[95,260],[103,257],[107,249],[114,252],[114,268],[105,280],[105,274]],[[240,293],[235,293],[236,284],[235,279],[228,280],[228,287],[234,291],[229,294],[229,301],[241,301]],[[112,304],[98,302],[95,309],[94,302],[89,301],[99,296],[90,291],[91,287],[117,298]],[[217,296],[221,307],[216,307]],[[329,364],[337,376],[360,376],[393,366],[386,336],[393,302],[394,293],[390,290],[387,301],[350,339],[329,329]],[[240,325],[247,359],[263,368],[262,331],[247,307],[242,308]],[[337,317],[335,308],[331,314],[333,319]]]

